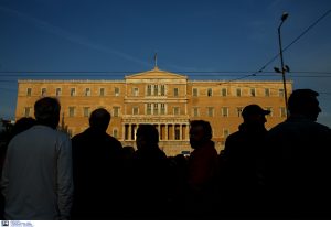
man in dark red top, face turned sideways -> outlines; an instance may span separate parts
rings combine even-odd
[[[197,214],[213,212],[217,152],[212,141],[212,127],[204,120],[190,122],[190,144],[194,149],[189,158],[189,210]],[[204,214],[205,215],[205,214]]]

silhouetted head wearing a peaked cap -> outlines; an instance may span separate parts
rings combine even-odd
[[[266,115],[270,115],[270,111],[256,104],[246,106],[242,112],[244,123],[256,127],[264,126],[267,122]]]

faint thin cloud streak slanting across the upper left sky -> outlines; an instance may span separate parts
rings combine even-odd
[[[148,64],[143,61],[140,61],[139,58],[136,58],[131,55],[128,55],[128,54],[119,52],[119,51],[110,50],[107,46],[93,43],[93,42],[86,40],[85,37],[83,37],[81,35],[76,35],[76,34],[73,34],[71,32],[67,32],[67,31],[65,31],[65,30],[63,30],[58,26],[54,26],[54,25],[52,25],[51,23],[49,23],[46,21],[33,18],[33,17],[26,14],[26,13],[22,13],[22,12],[19,12],[17,10],[8,9],[8,8],[4,8],[4,7],[0,7],[0,10],[4,11],[4,12],[8,12],[8,13],[11,13],[11,14],[14,14],[14,15],[19,17],[20,19],[24,20],[24,21],[29,21],[30,23],[34,24],[39,29],[42,29],[42,30],[44,30],[49,33],[55,34],[55,35],[57,35],[62,39],[65,39],[67,41],[71,41],[73,43],[77,43],[79,45],[83,45],[83,46],[86,46],[86,47],[89,47],[89,48],[93,48],[93,50],[96,50],[96,51],[99,51],[99,52],[104,52],[104,53],[107,53],[107,54],[114,54],[114,55],[117,55],[117,56],[119,56],[124,60],[131,61],[131,62],[141,64],[143,66],[150,66],[150,64]]]

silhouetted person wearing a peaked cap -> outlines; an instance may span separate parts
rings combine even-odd
[[[238,131],[229,134],[225,148],[221,151],[221,188],[227,193],[225,210],[258,210],[261,191],[260,171],[263,153],[266,150],[266,115],[258,105],[248,105],[243,109],[244,122]],[[255,206],[255,207],[254,207]]]

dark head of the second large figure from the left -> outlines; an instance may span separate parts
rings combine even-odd
[[[89,116],[89,126],[97,131],[105,132],[109,122],[110,114],[104,108],[95,109]]]

